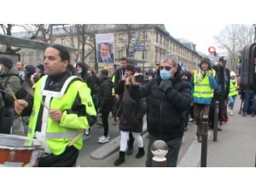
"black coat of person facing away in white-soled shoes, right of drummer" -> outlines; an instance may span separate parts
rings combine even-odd
[[[113,107],[112,88],[113,83],[109,78],[102,79],[99,90],[99,110],[101,113],[109,113]]]

